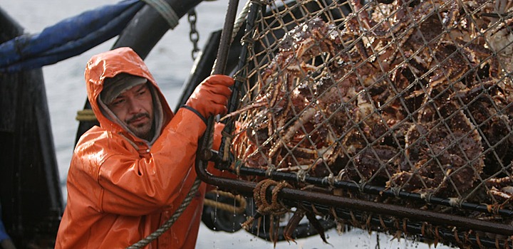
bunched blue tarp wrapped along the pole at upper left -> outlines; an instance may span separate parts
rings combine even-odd
[[[138,0],[120,1],[1,43],[0,72],[41,68],[88,51],[117,36],[142,6]]]

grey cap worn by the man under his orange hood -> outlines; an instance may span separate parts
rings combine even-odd
[[[114,78],[105,78],[103,83],[103,90],[100,93],[100,99],[105,105],[109,105],[115,100],[121,93],[126,90],[146,83],[147,79],[128,73],[121,73],[115,75]]]

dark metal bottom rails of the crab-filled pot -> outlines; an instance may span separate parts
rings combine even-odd
[[[257,184],[253,181],[244,181],[241,179],[227,179],[219,176],[214,176],[210,174],[205,169],[205,161],[199,160],[196,164],[196,171],[199,176],[199,179],[206,182],[207,184],[211,184],[213,186],[218,186],[220,189],[225,191],[231,191],[234,194],[242,194],[244,196],[253,196],[253,191]],[[259,169],[252,169],[247,167],[240,167],[240,174],[249,174],[252,176],[266,176],[268,175],[266,171]],[[294,174],[283,174],[276,172],[276,174],[271,173],[271,179],[276,180],[287,180],[287,181],[297,181],[297,177]],[[316,182],[319,186],[326,186],[326,181],[323,179],[311,179],[311,182]],[[318,182],[321,181],[321,182]],[[342,185],[351,186],[351,183],[343,183]],[[268,195],[271,196],[271,192],[274,188],[270,187],[267,192]],[[370,191],[378,191],[378,187],[369,187]],[[408,198],[419,199],[420,196],[415,196],[415,194],[408,194]],[[321,211],[322,213],[326,213],[330,215],[333,211],[337,214],[337,218],[345,218],[348,221],[351,221],[356,216],[363,217],[361,212],[375,213],[380,216],[388,216],[387,218],[373,217],[371,215],[371,223],[375,226],[383,226],[383,224],[388,224],[388,226],[384,226],[381,228],[374,228],[374,230],[379,231],[403,231],[409,234],[417,234],[422,235],[424,238],[430,239],[440,239],[441,241],[448,241],[450,243],[457,243],[457,241],[465,241],[466,243],[472,243],[474,246],[480,245],[488,245],[498,248],[503,248],[506,243],[509,242],[508,238],[500,237],[494,239],[490,238],[479,238],[477,235],[472,233],[465,233],[465,231],[486,231],[487,233],[494,233],[497,235],[513,235],[513,226],[501,223],[495,223],[491,221],[480,221],[474,218],[467,218],[462,216],[450,215],[447,213],[438,213],[434,211],[428,210],[420,210],[417,208],[408,208],[403,206],[396,206],[385,203],[376,203],[373,201],[364,201],[358,200],[355,198],[348,198],[343,196],[333,196],[331,194],[323,194],[314,191],[304,191],[299,189],[281,189],[279,193],[279,198],[284,200],[285,203],[290,206],[298,206],[298,203],[303,203],[303,206],[314,206],[317,211]],[[440,204],[447,205],[450,203],[448,199],[435,199],[436,202]],[[468,209],[482,210],[485,208],[482,205],[477,205],[473,203],[463,203],[462,206]],[[359,212],[358,214],[353,214],[352,212]],[[499,210],[500,213],[504,215],[512,216],[512,211],[508,210]],[[400,226],[396,226],[395,223],[397,218],[407,218],[412,222],[408,221],[407,223],[402,223]],[[366,223],[369,221],[368,218],[359,218],[362,223]],[[452,231],[447,226],[450,224],[451,227],[454,228],[462,228],[463,232],[458,232],[457,229],[453,229]],[[424,232],[425,226],[434,226],[435,230],[430,230],[429,233]],[[440,226],[440,227],[436,227]],[[388,227],[388,228],[387,228]],[[373,230],[373,228],[368,228],[369,230]],[[426,230],[427,231],[427,230]],[[479,234],[479,233],[478,233]],[[478,242],[479,241],[479,242]]]

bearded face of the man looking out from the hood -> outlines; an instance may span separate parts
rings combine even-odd
[[[136,136],[152,138],[153,101],[147,84],[126,90],[107,106]]]

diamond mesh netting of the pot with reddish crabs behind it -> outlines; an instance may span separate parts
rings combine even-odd
[[[318,179],[333,195],[512,223],[501,212],[513,210],[513,1],[265,4],[227,116],[234,165],[293,173],[297,189]]]

